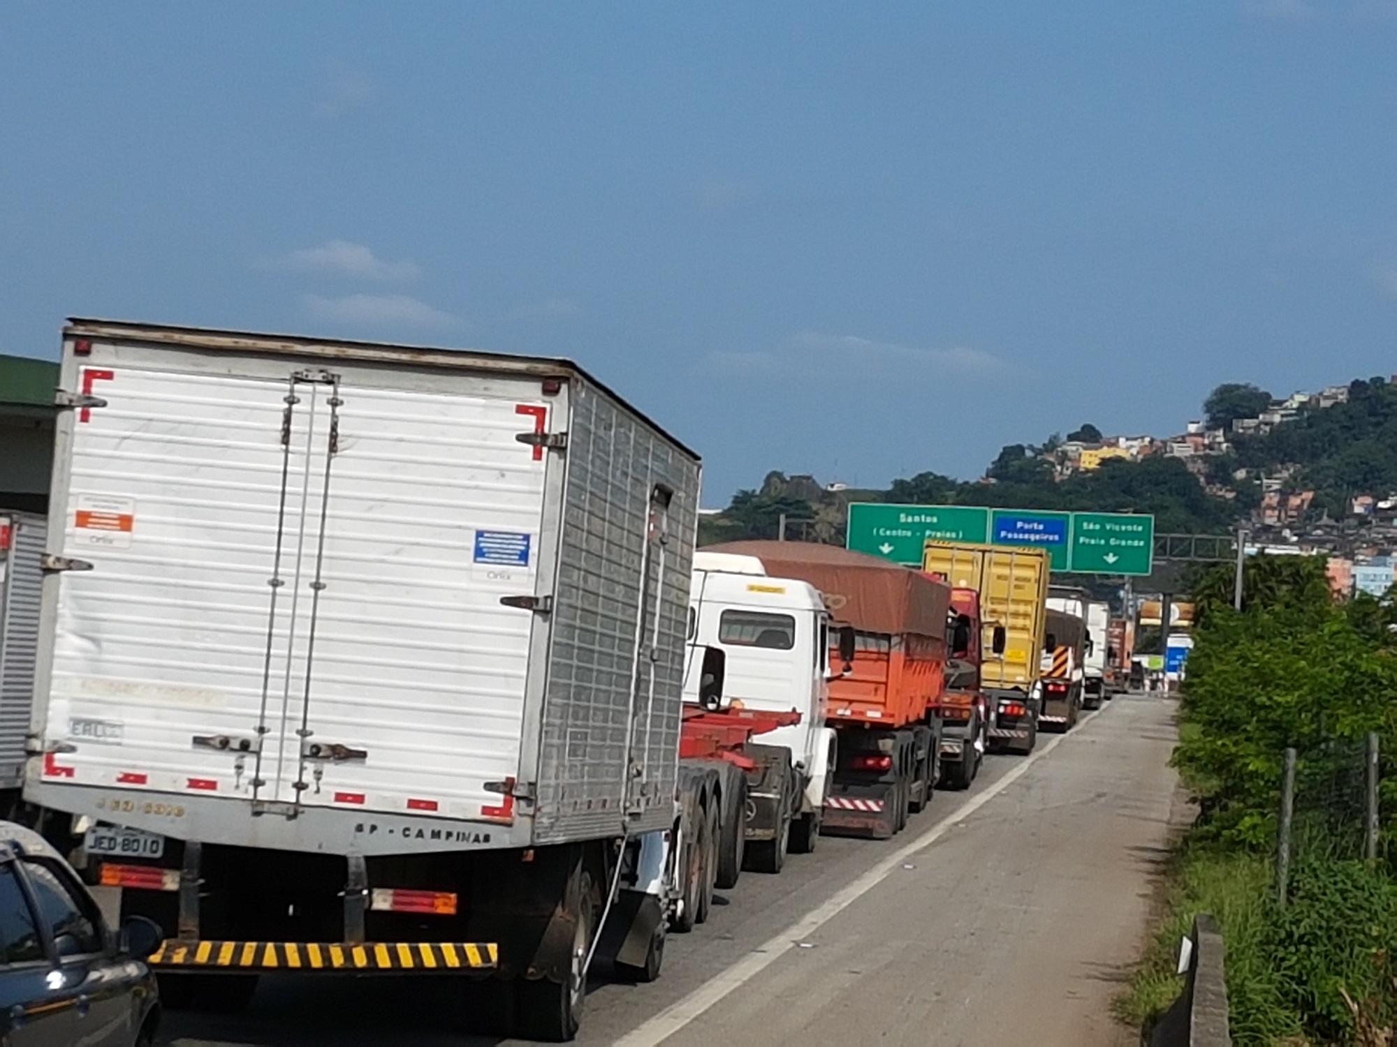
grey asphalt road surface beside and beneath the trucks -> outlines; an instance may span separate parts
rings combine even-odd
[[[1024,759],[992,757],[893,840],[823,838],[746,874],[672,935],[659,981],[591,988],[578,1043],[1118,1047],[1169,835],[1173,704],[1123,697]],[[446,981],[264,979],[236,1016],[169,1015],[161,1043],[496,1044]]]

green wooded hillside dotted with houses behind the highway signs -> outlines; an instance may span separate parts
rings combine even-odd
[[[1160,533],[1245,528],[1259,546],[1327,554],[1331,572],[1375,588],[1397,563],[1397,377],[1285,398],[1220,385],[1176,434],[1109,436],[1088,423],[1006,445],[974,480],[923,472],[851,490],[771,472],[701,528],[710,540],[777,537],[784,526],[791,539],[842,543],[851,501],[1151,512]]]

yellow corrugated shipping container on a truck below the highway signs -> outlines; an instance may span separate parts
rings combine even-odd
[[[929,540],[922,570],[979,593],[985,621],[981,685],[1028,691],[1039,674],[1048,621],[1048,550]],[[995,625],[1004,627],[1004,653],[993,653]]]

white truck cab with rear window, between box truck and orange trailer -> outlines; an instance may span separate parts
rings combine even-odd
[[[814,850],[830,787],[834,732],[826,726],[830,616],[820,591],[771,578],[760,558],[694,553],[685,704],[708,715],[686,734],[749,722],[754,737],[683,758],[680,772],[721,765],[714,882],[736,884],[743,867],[780,872],[788,850]],[[692,725],[692,726],[690,726]]]

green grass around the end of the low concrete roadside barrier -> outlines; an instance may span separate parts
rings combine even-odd
[[[1299,1019],[1285,1005],[1266,935],[1271,867],[1252,853],[1225,852],[1185,838],[1166,867],[1165,912],[1129,988],[1115,1001],[1116,1016],[1134,1027],[1158,1018],[1183,990],[1175,973],[1179,942],[1197,913],[1211,913],[1225,942],[1232,1041],[1238,1047],[1270,1047],[1299,1039]],[[1292,1039],[1294,1037],[1294,1039]]]

